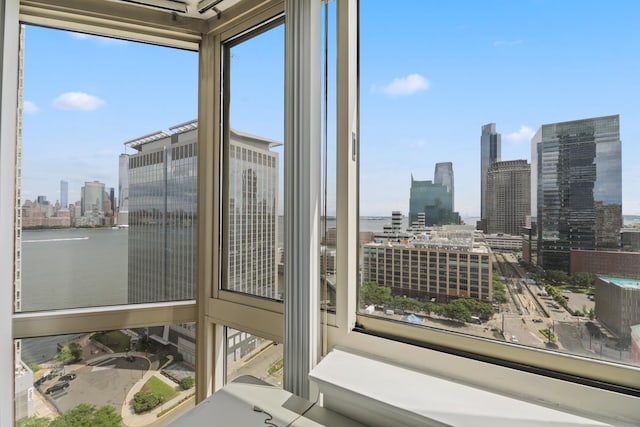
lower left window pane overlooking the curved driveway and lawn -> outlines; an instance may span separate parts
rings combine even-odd
[[[194,324],[28,338],[14,345],[17,425],[29,418],[46,419],[38,425],[56,418],[60,423],[78,413],[83,425],[145,425],[149,419],[166,425],[195,406]]]

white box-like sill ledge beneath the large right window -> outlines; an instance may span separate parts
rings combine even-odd
[[[325,408],[372,426],[633,425],[530,403],[341,349],[330,352],[309,376],[323,393]]]

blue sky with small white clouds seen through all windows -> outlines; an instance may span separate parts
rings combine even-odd
[[[334,5],[330,5],[334,8]],[[335,8],[334,8],[335,9]],[[530,161],[542,125],[620,115],[623,213],[640,214],[640,2],[361,1],[360,212],[408,214],[411,174],[453,162],[455,208],[480,211],[480,133]],[[329,213],[335,211],[330,38]],[[23,198],[118,187],[123,143],[197,117],[197,54],[27,27]],[[232,50],[232,126],[283,139],[282,27]],[[286,148],[283,148],[286,155]],[[281,159],[281,163],[282,159]]]

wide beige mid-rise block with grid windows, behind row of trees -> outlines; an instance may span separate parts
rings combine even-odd
[[[473,231],[433,231],[400,243],[363,247],[363,280],[391,287],[394,295],[436,301],[493,299],[491,250]]]

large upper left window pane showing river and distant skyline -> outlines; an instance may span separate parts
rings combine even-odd
[[[197,52],[23,37],[15,310],[193,299]]]

